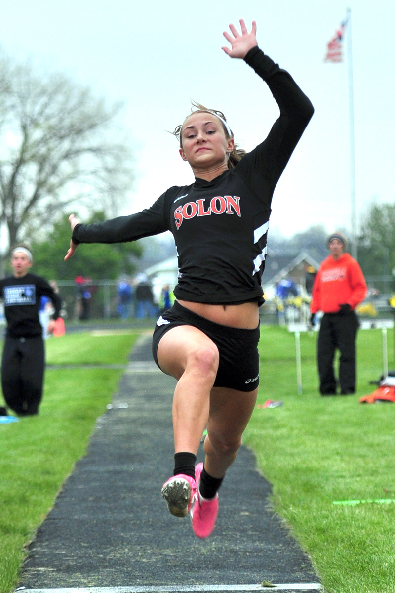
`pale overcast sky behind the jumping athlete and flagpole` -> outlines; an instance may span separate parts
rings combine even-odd
[[[243,6],[244,5],[244,6]],[[349,102],[345,61],[325,63],[326,44],[351,8],[357,220],[393,202],[395,186],[395,5],[391,0],[2,0],[0,45],[15,59],[60,71],[123,119],[136,183],[122,214],[149,206],[168,187],[192,182],[173,130],[190,98],[220,109],[247,150],[278,116],[266,85],[222,50],[222,32],[256,20],[259,46],[287,69],[315,114],[278,183],[271,229],[287,237],[322,224],[351,227]],[[269,233],[270,236],[270,233]]]

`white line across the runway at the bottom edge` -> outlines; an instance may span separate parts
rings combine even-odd
[[[162,585],[131,587],[74,587],[59,589],[25,589],[20,587],[15,593],[182,593],[184,591],[319,591],[320,583],[277,583],[271,587],[256,585]]]

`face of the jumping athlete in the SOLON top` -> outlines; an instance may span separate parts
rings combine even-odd
[[[182,124],[179,154],[197,170],[225,165],[234,141],[227,138],[220,120],[204,111],[192,113]]]

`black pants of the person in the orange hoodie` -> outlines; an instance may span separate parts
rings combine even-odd
[[[339,383],[341,393],[355,392],[355,338],[359,321],[354,311],[346,315],[326,313],[321,320],[318,336],[318,371],[320,393],[336,393],[333,359],[340,350]]]

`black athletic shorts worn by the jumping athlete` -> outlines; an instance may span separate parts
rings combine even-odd
[[[160,338],[176,326],[194,326],[203,331],[217,346],[220,354],[214,387],[253,391],[259,384],[259,325],[253,330],[214,323],[175,302],[156,321],[152,353],[158,364]],[[159,367],[160,368],[160,367]]]

